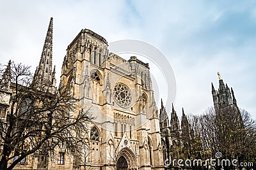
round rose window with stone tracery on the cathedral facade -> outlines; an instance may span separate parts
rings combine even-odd
[[[115,85],[113,95],[119,106],[127,108],[131,104],[131,91],[123,83],[117,83]]]

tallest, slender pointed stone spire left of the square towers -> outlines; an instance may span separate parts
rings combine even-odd
[[[34,83],[40,86],[55,87],[55,70],[52,71],[52,24],[53,18],[51,17],[47,34],[44,41],[44,48],[40,58],[38,67],[36,67]]]

